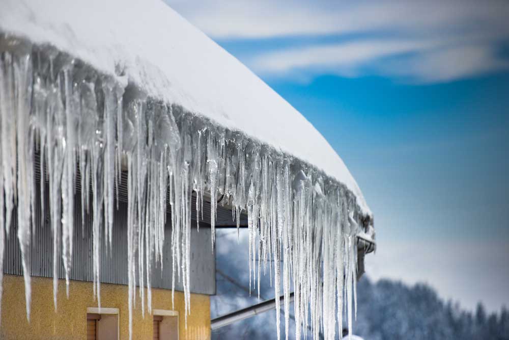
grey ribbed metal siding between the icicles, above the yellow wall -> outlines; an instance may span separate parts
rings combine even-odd
[[[38,184],[37,184],[38,185]],[[48,188],[45,195],[48,202]],[[101,251],[101,282],[127,284],[127,203],[119,194],[119,210],[115,211],[114,230],[111,253],[106,253],[104,242]],[[79,192],[76,193],[75,203],[75,228],[74,247],[71,279],[80,281],[92,281],[92,217],[86,215],[84,233],[81,230],[81,204]],[[39,200],[39,198],[37,198]],[[210,206],[210,203],[207,204]],[[194,206],[194,205],[192,205]],[[209,207],[210,214],[210,207]],[[4,273],[22,275],[21,252],[17,240],[17,217],[13,214],[9,237],[6,239]],[[45,204],[44,221],[41,220],[40,206],[37,207],[36,226],[33,230],[31,247],[31,275],[53,277],[53,237],[49,220],[48,204]],[[210,216],[210,215],[209,215]],[[204,215],[204,218],[206,216]],[[195,213],[193,214],[193,220]],[[171,218],[167,217],[165,225],[163,270],[154,264],[152,286],[156,288],[171,289],[172,287],[172,252],[171,252]],[[191,227],[191,286],[192,293],[215,294],[215,259],[211,248],[210,225],[201,222],[200,231],[196,229],[195,220]],[[64,266],[59,257],[59,277],[65,278]],[[183,291],[181,282],[177,282],[175,289]]]

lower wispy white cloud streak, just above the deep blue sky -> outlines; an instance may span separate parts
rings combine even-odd
[[[411,82],[444,82],[509,68],[486,44],[450,46],[444,41],[369,40],[292,48],[254,56],[247,64],[264,75],[364,73]]]

